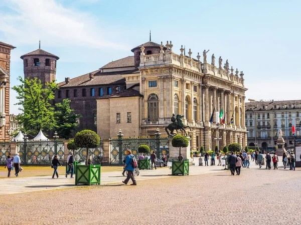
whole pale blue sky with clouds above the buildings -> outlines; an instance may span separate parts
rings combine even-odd
[[[246,99],[300,99],[301,1],[4,0],[0,41],[12,51],[11,83],[23,76],[20,56],[41,48],[60,57],[57,81],[132,55],[148,41],[172,41],[193,56],[210,49],[244,72]],[[19,113],[11,91],[11,113]]]

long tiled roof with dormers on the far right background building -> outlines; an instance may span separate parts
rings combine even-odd
[[[274,108],[276,105],[276,108]],[[282,108],[282,105],[284,108]],[[288,106],[291,105],[291,108]],[[263,108],[264,106],[264,108]],[[267,101],[267,102],[246,102],[246,111],[283,110],[301,108],[301,100]]]

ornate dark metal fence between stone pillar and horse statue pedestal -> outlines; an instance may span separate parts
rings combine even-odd
[[[110,164],[111,165],[122,165],[125,156],[125,150],[131,149],[132,153],[138,155],[138,147],[141,144],[145,144],[150,148],[150,151],[155,151],[158,158],[162,158],[164,154],[169,157],[169,142],[168,138],[112,138],[110,140],[111,145],[111,155]]]

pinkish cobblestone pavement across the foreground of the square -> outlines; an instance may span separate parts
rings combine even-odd
[[[1,224],[301,224],[301,173],[278,169],[2,195]]]

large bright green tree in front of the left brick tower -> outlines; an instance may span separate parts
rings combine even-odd
[[[18,80],[21,84],[14,86],[13,90],[18,93],[19,102],[16,105],[20,105],[19,110],[22,111],[18,120],[23,124],[23,129],[31,135],[36,135],[40,130],[52,130],[56,127],[56,121],[50,102],[54,99],[58,85],[52,81],[43,87],[37,78],[24,80],[18,77]]]

